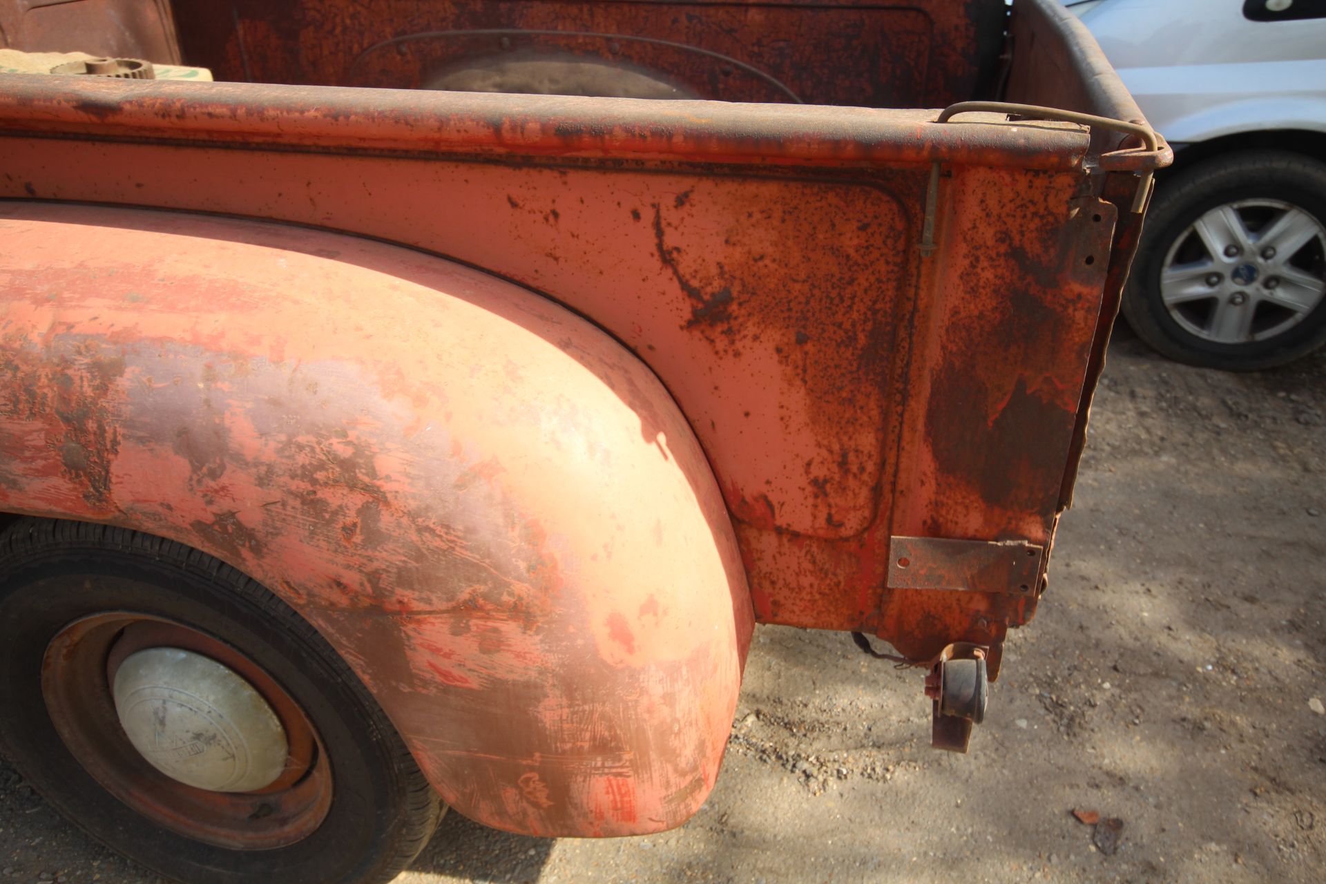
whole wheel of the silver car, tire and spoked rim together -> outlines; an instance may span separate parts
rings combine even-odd
[[[1313,225],[1310,241],[1293,248]],[[1268,252],[1273,235],[1293,253]],[[1269,150],[1203,160],[1158,183],[1123,314],[1138,337],[1179,362],[1281,366],[1326,343],[1323,248],[1326,164]]]

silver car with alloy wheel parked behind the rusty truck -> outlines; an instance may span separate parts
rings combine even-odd
[[[1326,0],[1067,1],[1175,148],[1128,323],[1192,364],[1326,342]]]

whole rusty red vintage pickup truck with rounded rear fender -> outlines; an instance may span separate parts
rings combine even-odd
[[[1054,0],[3,9],[88,53],[0,74],[0,746],[78,826],[666,830],[756,623],[965,750],[1171,156]]]

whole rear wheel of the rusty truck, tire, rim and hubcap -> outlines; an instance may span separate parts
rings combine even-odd
[[[0,534],[0,749],[190,884],[385,881],[443,811],[354,673],[235,569],[123,529]]]

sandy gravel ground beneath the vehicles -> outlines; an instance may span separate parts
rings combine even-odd
[[[1228,375],[1120,330],[971,754],[928,749],[918,672],[761,627],[687,826],[549,842],[453,814],[398,884],[1326,880],[1323,410],[1326,357]],[[155,880],[3,761],[0,879]]]

